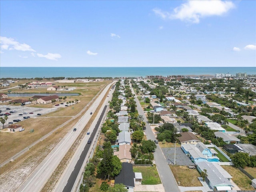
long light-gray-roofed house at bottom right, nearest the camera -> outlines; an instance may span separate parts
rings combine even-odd
[[[198,162],[198,164],[196,164],[196,168],[199,172],[202,172],[204,169],[207,171],[205,181],[212,190],[226,191],[232,190],[232,187],[234,187],[230,182],[232,176],[217,163]]]

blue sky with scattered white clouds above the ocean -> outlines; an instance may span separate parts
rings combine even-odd
[[[254,67],[255,0],[0,0],[1,67]]]

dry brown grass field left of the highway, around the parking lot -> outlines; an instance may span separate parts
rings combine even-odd
[[[10,156],[13,156],[16,153],[16,151],[19,151],[15,148],[22,148],[20,147],[21,145],[25,147],[28,146],[29,144],[34,142],[36,138],[41,138],[50,130],[52,130],[53,128],[56,128],[56,126],[72,118],[70,116],[74,116],[78,114],[78,112],[80,112],[88,104],[88,102],[90,102],[90,100],[109,82],[110,81],[95,82],[95,83],[90,82],[90,84],[79,83],[77,84],[78,87],[76,88],[75,92],[78,92],[79,90],[81,95],[68,97],[66,99],[66,101],[68,100],[72,101],[75,99],[80,100],[80,102],[74,105],[73,108],[72,106],[68,106],[66,108],[60,107],[56,112],[46,114],[44,116],[41,116],[40,118],[35,118],[35,119],[30,118],[23,122],[19,122],[19,124],[24,123],[22,124],[22,126],[25,127],[25,131],[23,132],[16,132],[12,134],[1,132],[0,133],[1,162],[3,161],[2,159],[8,159],[10,158]],[[87,85],[89,84],[89,85],[86,86],[86,84]],[[74,86],[76,86],[76,84],[72,84],[72,87]],[[25,92],[25,91],[27,90],[23,90],[23,91],[20,90],[20,92]],[[31,90],[28,90],[28,92],[31,92]],[[32,90],[32,92],[34,92],[34,90]],[[47,105],[32,104],[31,106],[32,107],[43,106],[45,108]],[[50,108],[54,107],[53,104],[48,104],[48,106]],[[54,148],[54,146],[56,146],[56,144],[58,144],[58,142],[74,126],[74,124],[77,122],[77,119],[72,120],[66,126],[58,129],[51,136],[49,136],[42,142],[38,143],[36,146],[32,147],[28,152],[20,156],[14,162],[10,162],[6,166],[2,167],[0,169],[1,190],[15,191],[15,189],[24,181],[24,179],[32,173],[34,168],[36,168],[36,166],[40,164],[40,162],[48,155],[48,153]],[[34,127],[40,127],[40,128],[37,128],[36,130]],[[30,130],[30,128],[34,128],[35,132],[32,134],[29,133],[28,130]],[[21,135],[22,137],[20,138]],[[9,148],[9,150],[12,150],[12,152],[9,152],[8,149],[6,148]]]

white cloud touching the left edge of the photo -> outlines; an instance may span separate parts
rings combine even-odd
[[[3,49],[3,50],[18,50],[18,51],[36,52],[28,44],[25,44],[25,43],[21,44],[12,38],[0,36],[0,44],[1,44],[1,49]]]

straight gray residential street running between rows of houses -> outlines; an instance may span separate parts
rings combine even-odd
[[[132,94],[135,94],[134,90],[132,89]],[[135,97],[134,99],[137,104],[137,110],[140,115],[144,117],[144,121],[147,120],[144,111],[142,110],[142,107],[140,106],[140,103],[138,101],[138,98]],[[146,121],[146,137],[148,140],[156,140],[156,137],[154,136],[154,133],[150,127],[150,124]],[[162,153],[162,150],[158,144],[156,144],[157,148],[154,152],[154,159],[156,162],[156,168],[158,170],[158,174],[161,178],[162,184],[164,185],[164,189],[166,192],[180,192],[178,188],[178,184],[174,178],[174,175],[172,174],[172,171],[169,167],[169,165],[166,162],[166,159],[164,158],[164,154]]]

